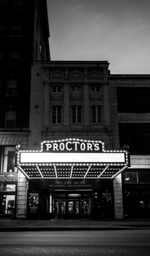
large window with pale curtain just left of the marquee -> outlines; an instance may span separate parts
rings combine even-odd
[[[14,167],[15,149],[16,147],[4,147],[4,146],[2,147],[2,163],[1,163],[2,172],[17,172],[17,167]]]

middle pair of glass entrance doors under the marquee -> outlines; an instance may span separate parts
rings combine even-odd
[[[81,215],[81,199],[68,199],[68,214],[70,217],[80,217]]]

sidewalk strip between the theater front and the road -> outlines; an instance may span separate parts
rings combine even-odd
[[[4,231],[67,231],[67,230],[150,230],[150,219],[123,220],[0,220],[0,232]]]

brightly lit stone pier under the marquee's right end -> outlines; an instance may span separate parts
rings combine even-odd
[[[122,178],[121,174],[114,178],[114,212],[115,219],[123,219],[123,202],[122,202]]]

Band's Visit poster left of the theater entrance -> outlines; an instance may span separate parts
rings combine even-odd
[[[29,193],[29,213],[39,213],[39,193]]]

